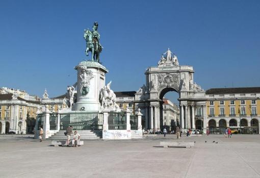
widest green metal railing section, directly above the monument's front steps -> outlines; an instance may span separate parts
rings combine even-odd
[[[60,130],[71,125],[73,130],[102,130],[103,113],[60,114]]]

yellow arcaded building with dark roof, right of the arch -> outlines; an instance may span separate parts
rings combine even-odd
[[[237,133],[259,133],[260,87],[216,88],[206,91],[206,127],[230,127]]]

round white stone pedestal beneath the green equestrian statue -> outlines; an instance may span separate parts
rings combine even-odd
[[[75,70],[77,70],[77,101],[72,110],[97,112],[100,108],[99,91],[105,86],[105,74],[108,70],[93,61],[83,61],[75,66]]]

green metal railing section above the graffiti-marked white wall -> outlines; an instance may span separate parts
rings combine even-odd
[[[126,130],[126,113],[110,112],[108,115],[109,130]]]

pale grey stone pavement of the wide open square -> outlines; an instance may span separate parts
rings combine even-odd
[[[89,140],[81,147],[31,137],[0,136],[0,177],[260,177],[259,135],[180,139],[196,141],[192,148],[155,147],[175,135]]]

